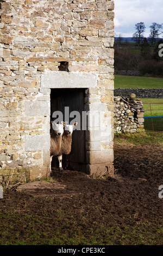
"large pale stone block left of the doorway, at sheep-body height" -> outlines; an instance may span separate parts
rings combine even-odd
[[[27,135],[26,151],[39,151],[50,149],[50,135]]]

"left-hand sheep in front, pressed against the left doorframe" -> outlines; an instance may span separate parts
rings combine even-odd
[[[58,156],[61,150],[62,135],[64,133],[65,123],[62,121],[61,124],[56,124],[52,121],[52,132],[51,132],[51,164],[50,170],[52,171],[52,159],[53,156]]]

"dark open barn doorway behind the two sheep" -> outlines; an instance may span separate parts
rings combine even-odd
[[[69,113],[78,111],[80,113],[80,122],[78,127],[72,133],[72,150],[70,155],[64,156],[62,160],[62,167],[68,170],[81,170],[86,172],[85,162],[85,131],[82,130],[82,112],[84,111],[85,89],[51,89],[51,121],[56,120],[52,115],[56,111],[63,114],[63,121],[65,118],[65,107],[68,107]],[[76,118],[69,117],[69,123]],[[52,129],[52,127],[51,127]],[[58,168],[58,159],[53,157],[52,169]]]

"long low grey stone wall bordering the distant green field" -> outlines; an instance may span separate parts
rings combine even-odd
[[[114,95],[123,95],[129,97],[131,93],[136,94],[140,98],[163,99],[163,88],[116,88]],[[163,100],[162,100],[163,101]]]

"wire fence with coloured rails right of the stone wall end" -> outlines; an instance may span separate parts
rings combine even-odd
[[[163,132],[163,102],[148,102],[145,109],[145,130]]]

